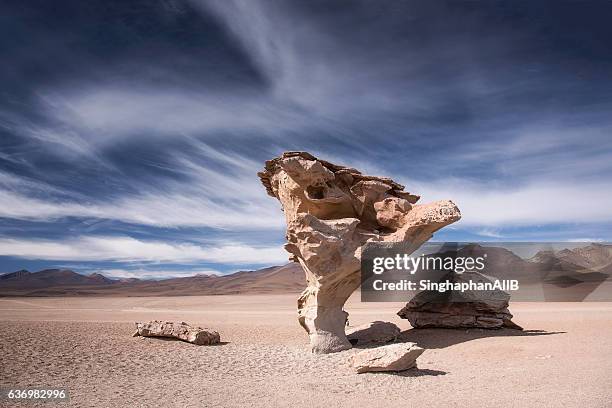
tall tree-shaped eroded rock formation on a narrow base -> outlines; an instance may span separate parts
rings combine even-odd
[[[306,152],[269,160],[258,175],[282,205],[285,249],[306,273],[298,319],[316,353],[351,348],[343,306],[360,285],[364,244],[408,242],[414,251],[461,217],[452,201],[416,204],[419,196],[389,178],[367,176]]]

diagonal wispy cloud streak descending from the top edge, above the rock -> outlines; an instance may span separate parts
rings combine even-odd
[[[226,27],[266,77],[271,99],[281,104],[292,103],[326,117],[348,114],[353,120],[358,117],[352,116],[356,110],[372,113],[424,105],[423,95],[414,95],[412,86],[409,97],[397,87],[398,76],[422,68],[418,59],[410,66],[402,62],[405,55],[397,50],[401,54],[409,51],[397,38],[400,43],[379,43],[376,50],[364,55],[295,5],[259,0],[192,3]],[[379,63],[372,64],[373,58]]]

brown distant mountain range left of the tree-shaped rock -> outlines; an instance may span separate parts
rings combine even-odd
[[[297,263],[230,275],[163,280],[111,279],[69,269],[20,270],[0,275],[0,296],[187,296],[301,292],[306,278]]]

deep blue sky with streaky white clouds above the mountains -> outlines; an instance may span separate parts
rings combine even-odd
[[[282,264],[284,150],[454,200],[437,240],[612,239],[611,3],[0,11],[0,272]]]

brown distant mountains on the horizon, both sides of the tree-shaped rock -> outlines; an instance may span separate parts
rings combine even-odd
[[[560,251],[540,251],[523,259],[502,247],[471,244],[455,256],[487,254],[487,274],[581,288],[587,296],[612,275],[612,245],[591,244]],[[442,254],[443,255],[443,254]],[[298,263],[230,275],[195,275],[163,280],[111,279],[99,273],[82,275],[68,269],[20,270],[0,275],[0,296],[187,296],[249,293],[298,293],[306,279]],[[582,296],[582,295],[581,295]]]

